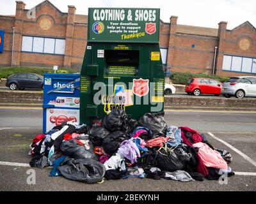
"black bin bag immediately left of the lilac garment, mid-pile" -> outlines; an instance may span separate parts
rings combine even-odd
[[[129,137],[125,133],[121,131],[115,131],[114,133],[109,133],[108,136],[106,136],[103,139],[102,147],[104,152],[111,156],[114,154],[118,148],[120,147],[120,144],[124,142],[124,140],[128,140]]]

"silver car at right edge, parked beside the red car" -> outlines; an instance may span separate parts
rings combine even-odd
[[[223,83],[221,94],[226,98],[256,97],[256,77],[232,77]]]

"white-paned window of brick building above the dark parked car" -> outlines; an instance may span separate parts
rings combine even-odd
[[[65,54],[65,40],[22,36],[21,51],[63,55]]]

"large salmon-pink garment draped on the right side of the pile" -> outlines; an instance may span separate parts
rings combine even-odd
[[[207,144],[198,142],[193,144],[193,147],[198,147],[198,154],[206,167],[222,168],[228,170],[227,162],[221,157],[220,152],[212,150]]]

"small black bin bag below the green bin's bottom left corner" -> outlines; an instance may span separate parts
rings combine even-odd
[[[109,134],[109,131],[105,128],[96,126],[88,131],[90,140],[95,147],[102,146],[103,139]]]

